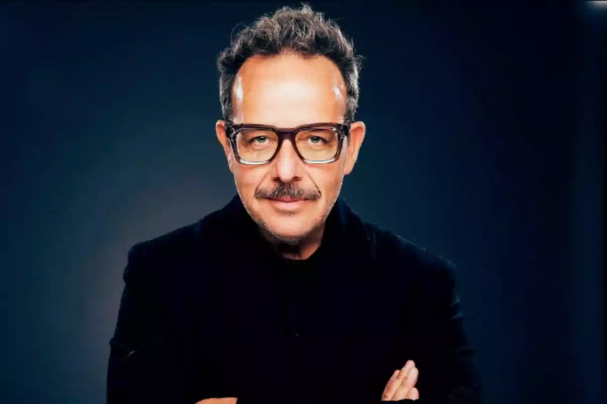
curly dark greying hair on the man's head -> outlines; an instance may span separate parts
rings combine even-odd
[[[252,25],[244,27],[222,51],[217,60],[221,73],[219,97],[223,118],[232,118],[232,87],[236,75],[248,58],[255,55],[279,55],[295,51],[302,56],[322,55],[331,59],[344,78],[347,89],[345,119],[354,121],[358,107],[358,75],[362,57],[354,54],[354,47],[345,38],[334,21],[310,5],[301,8],[282,7],[274,15],[265,15]]]

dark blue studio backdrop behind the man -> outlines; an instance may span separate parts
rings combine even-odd
[[[491,3],[311,3],[366,57],[342,194],[458,266],[488,403],[599,403],[607,8]],[[215,58],[283,4],[0,7],[0,402],[104,402],[127,250],[234,195]]]

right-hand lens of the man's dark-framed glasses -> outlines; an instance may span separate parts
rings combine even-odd
[[[316,127],[297,132],[297,150],[308,161],[324,161],[335,157],[339,136],[333,127]]]

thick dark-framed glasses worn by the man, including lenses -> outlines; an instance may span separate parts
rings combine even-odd
[[[350,123],[307,124],[296,128],[277,128],[270,125],[238,124],[226,121],[226,136],[241,164],[268,164],[289,139],[300,159],[308,164],[327,164],[337,161],[350,134]]]

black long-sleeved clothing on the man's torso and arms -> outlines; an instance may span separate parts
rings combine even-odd
[[[341,199],[309,261],[269,248],[238,197],[131,248],[107,402],[379,404],[409,359],[418,404],[481,402],[452,264]]]

